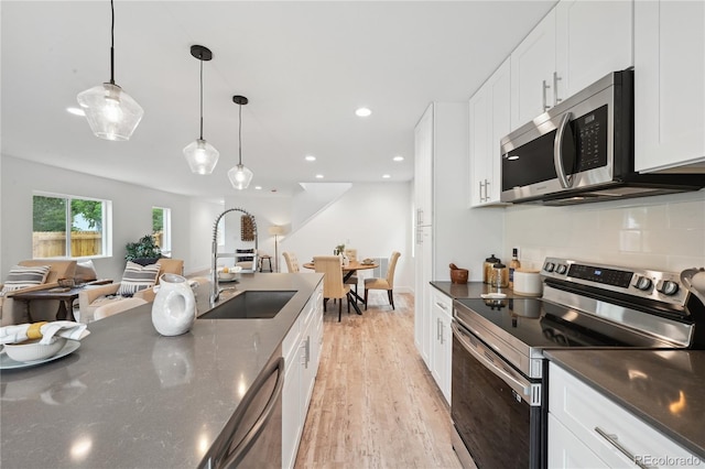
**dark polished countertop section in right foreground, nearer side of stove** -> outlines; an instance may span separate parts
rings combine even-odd
[[[705,350],[549,350],[545,355],[705,458]]]

